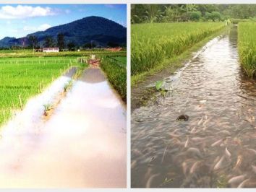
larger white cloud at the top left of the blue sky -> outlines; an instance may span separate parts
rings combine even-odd
[[[27,17],[43,17],[55,15],[53,9],[42,6],[1,6],[0,19],[24,19]]]

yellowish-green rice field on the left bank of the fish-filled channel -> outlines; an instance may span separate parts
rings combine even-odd
[[[179,56],[195,43],[221,30],[223,22],[183,22],[132,25],[132,75],[155,68],[165,58]]]

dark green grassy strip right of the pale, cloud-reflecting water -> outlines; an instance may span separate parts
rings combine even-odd
[[[101,69],[105,71],[108,81],[119,92],[121,99],[127,102],[127,57],[105,56],[101,60]]]

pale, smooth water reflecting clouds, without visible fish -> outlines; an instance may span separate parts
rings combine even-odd
[[[87,69],[48,121],[13,121],[1,131],[1,188],[126,186],[126,110],[100,69]]]

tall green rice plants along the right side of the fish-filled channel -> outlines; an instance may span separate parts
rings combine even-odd
[[[238,46],[242,68],[248,77],[256,74],[256,22],[239,22]]]

